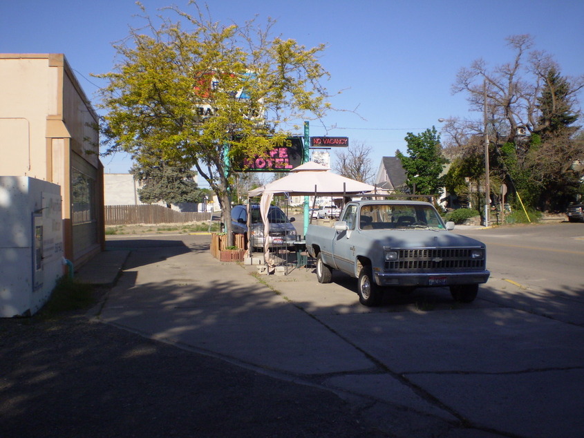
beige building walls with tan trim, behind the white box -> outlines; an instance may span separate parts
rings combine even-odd
[[[98,248],[91,245],[73,254],[71,164],[77,155],[90,176],[102,181],[97,122],[64,55],[0,54],[0,175],[61,186],[66,257],[81,263]],[[103,188],[99,191],[102,198]],[[102,232],[100,238],[98,247]]]

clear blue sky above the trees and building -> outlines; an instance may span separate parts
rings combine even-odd
[[[156,8],[186,0],[144,0]],[[214,0],[214,20],[243,23],[258,15],[277,20],[274,32],[307,47],[328,46],[321,64],[331,74],[329,91],[344,90],[332,104],[353,113],[324,121],[383,156],[406,151],[406,133],[420,133],[441,117],[478,117],[464,95],[452,95],[460,68],[482,58],[492,67],[511,61],[505,37],[529,33],[536,48],[554,55],[563,75],[584,74],[584,2],[581,0]],[[200,2],[200,4],[204,4]],[[103,83],[91,73],[111,71],[111,44],[143,21],[133,0],[18,0],[0,4],[0,53],[64,53],[86,95],[96,102]],[[584,97],[580,96],[581,100]],[[298,134],[301,134],[299,132]],[[317,122],[310,135],[325,135]],[[334,160],[334,154],[333,158]],[[124,155],[102,158],[106,172],[125,173]]]

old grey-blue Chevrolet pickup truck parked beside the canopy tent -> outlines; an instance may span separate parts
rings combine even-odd
[[[411,200],[360,200],[346,204],[334,227],[309,225],[306,248],[317,259],[317,279],[332,269],[357,280],[361,304],[379,304],[385,287],[449,287],[470,303],[489,279],[487,251],[478,240],[451,233],[432,204]]]

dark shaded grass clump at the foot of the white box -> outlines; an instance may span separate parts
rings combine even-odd
[[[64,312],[85,310],[95,304],[93,286],[62,277],[49,300],[39,312],[42,318],[55,318]]]

